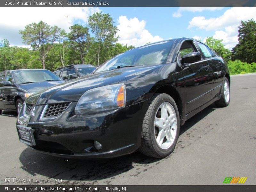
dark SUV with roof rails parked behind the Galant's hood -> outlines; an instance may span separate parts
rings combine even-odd
[[[61,77],[63,80],[68,81],[71,79],[76,79],[78,77],[90,75],[95,69],[96,67],[90,64],[67,65],[57,68],[57,71],[54,71],[53,73]]]

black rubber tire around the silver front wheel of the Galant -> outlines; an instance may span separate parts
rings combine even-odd
[[[162,149],[157,144],[156,136],[155,136],[155,124],[154,124],[155,115],[157,112],[156,110],[158,110],[159,106],[164,102],[168,102],[172,105],[176,113],[176,119],[177,119],[176,136],[171,146],[167,149]],[[165,93],[155,94],[149,101],[148,109],[143,120],[142,142],[141,142],[141,147],[139,151],[146,156],[164,158],[170,155],[174,150],[177,144],[177,140],[179,138],[179,133],[180,133],[180,116],[179,116],[179,111],[175,101],[168,94],[165,94]]]

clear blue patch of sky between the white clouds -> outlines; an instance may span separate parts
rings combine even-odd
[[[153,36],[158,35],[164,39],[170,37],[213,36],[214,31],[188,30],[189,21],[192,17],[202,15],[206,18],[218,17],[227,9],[194,13],[183,12],[180,18],[174,18],[172,14],[178,10],[177,7],[101,8],[103,12],[108,12],[115,21],[117,21],[120,15],[126,15],[127,18],[137,17],[139,20],[146,20],[146,29]]]

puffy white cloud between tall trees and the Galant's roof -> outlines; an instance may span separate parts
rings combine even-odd
[[[144,45],[148,42],[156,42],[163,40],[160,36],[153,36],[145,29],[146,21],[139,20],[134,17],[128,19],[126,16],[119,16],[117,28],[118,32],[118,43],[134,45],[135,47]]]

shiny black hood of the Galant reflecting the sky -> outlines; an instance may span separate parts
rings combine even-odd
[[[154,68],[158,67],[160,67],[160,65],[148,67],[126,67],[91,74],[44,89],[28,97],[26,103],[44,105],[78,101],[81,95],[89,89],[109,84],[116,84],[121,81],[125,81],[128,77],[137,75],[138,73],[144,73],[148,70],[154,70]]]

